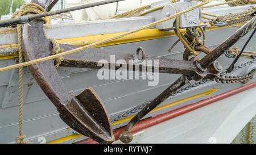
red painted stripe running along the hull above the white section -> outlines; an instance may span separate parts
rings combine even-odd
[[[193,104],[189,104],[188,106],[177,108],[176,110],[167,112],[166,114],[161,114],[161,115],[155,116],[154,118],[148,118],[148,119],[141,120],[136,125],[134,125],[131,132],[135,133],[135,132],[142,131],[143,129],[150,128],[150,127],[152,127],[156,124],[165,122],[165,121],[170,120],[172,118],[175,118],[177,116],[183,115],[187,112],[191,112],[193,110],[196,110],[198,108],[207,106],[208,104],[212,104],[212,103],[217,102],[219,100],[231,97],[231,96],[236,95],[238,93],[242,93],[243,91],[252,89],[254,87],[256,87],[256,82],[250,83],[248,85],[239,87],[239,88],[234,89],[234,90],[227,91],[223,94],[216,95],[216,96],[211,97],[211,98],[201,100],[201,101],[193,103]],[[115,136],[115,140],[118,140],[119,134],[124,130],[125,130],[125,127],[122,127],[122,128],[115,129],[113,131],[114,136]],[[92,139],[85,139],[85,140],[79,141],[78,143],[79,144],[96,144],[97,142],[92,140]]]

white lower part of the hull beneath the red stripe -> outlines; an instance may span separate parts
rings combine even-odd
[[[131,143],[231,143],[256,113],[255,94],[250,89],[143,129]]]

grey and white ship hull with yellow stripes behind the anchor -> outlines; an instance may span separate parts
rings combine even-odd
[[[139,17],[60,24],[45,26],[45,31],[48,38],[56,37],[60,43],[86,45],[152,23],[154,20],[150,17]],[[107,30],[104,29],[105,27]],[[205,32],[207,47],[213,49],[236,30],[237,28],[234,27],[209,28],[209,31]],[[0,31],[0,36],[5,38],[0,40],[0,67],[2,68],[16,63],[15,44],[17,40],[15,28]],[[241,49],[248,37],[249,35],[243,37],[235,46]],[[146,55],[149,56],[182,59],[185,49],[181,43],[177,44],[171,53],[168,53],[168,49],[176,40],[177,37],[173,31],[159,31],[153,27],[98,48],[135,53],[138,47],[143,47]],[[255,41],[256,37],[254,36],[246,49],[256,51]],[[8,53],[12,53],[12,55],[8,55]],[[199,58],[203,56],[204,54],[201,54]],[[228,68],[233,60],[224,55],[218,58],[224,68]],[[247,58],[241,58],[237,65],[247,61]],[[256,64],[244,66],[231,75],[245,76],[253,69],[256,69]],[[57,71],[72,95],[81,93],[86,87],[93,87],[103,100],[111,119],[154,99],[181,76],[160,73],[158,85],[148,86],[148,80],[144,79],[101,80],[97,78],[97,69],[60,67],[57,68]],[[145,74],[140,77],[143,76]],[[167,112],[179,110],[201,100],[250,85],[255,81],[256,78],[246,84],[222,84],[208,81],[199,85],[193,85],[196,81],[192,81],[193,87],[168,98],[160,105],[160,110],[148,114],[144,119],[155,118]],[[77,135],[60,119],[55,106],[40,89],[28,68],[24,68],[23,94],[23,131],[27,140],[32,143],[77,143],[86,139],[85,136]],[[232,97],[218,100],[214,104],[197,108],[171,120],[145,128],[138,131],[143,133],[142,136],[135,136],[135,139],[138,137],[138,140],[134,143],[208,143],[210,137],[215,137],[218,143],[230,143],[256,113],[254,94],[255,89],[251,87],[251,90],[240,92]],[[18,69],[0,73],[0,98],[0,143],[15,143],[15,137],[19,133]],[[126,117],[113,121],[113,129],[125,126],[130,120],[129,117],[137,112],[132,112]]]

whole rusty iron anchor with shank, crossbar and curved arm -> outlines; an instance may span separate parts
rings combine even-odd
[[[47,10],[51,10],[51,7],[57,0],[44,1],[44,4],[39,3],[38,1],[39,0],[32,0],[32,3],[37,3]],[[123,142],[129,143],[132,140],[130,131],[134,124],[141,120],[153,108],[162,103],[163,100],[170,97],[170,95],[177,89],[187,85],[187,83],[192,79],[197,81],[202,78],[213,80],[218,77],[222,67],[221,64],[216,61],[217,58],[220,57],[226,49],[241,39],[242,36],[254,28],[256,24],[255,21],[256,18],[252,19],[251,22],[247,23],[244,27],[235,32],[233,36],[230,36],[228,40],[224,41],[224,43],[214,48],[212,52],[207,53],[207,56],[201,60],[197,60],[195,57],[187,61],[147,56],[143,48],[138,48],[136,55],[94,48],[85,49],[80,52],[64,56],[64,60],[61,62],[60,66],[100,69],[102,67],[97,66],[97,63],[104,59],[108,61],[105,64],[109,65],[109,69],[113,69],[110,68],[112,62],[110,61],[109,63],[109,58],[111,55],[114,55],[117,59],[125,60],[125,62],[114,62],[115,66],[119,66],[114,69],[119,69],[123,65],[132,65],[132,70],[142,72],[142,64],[137,63],[137,61],[129,62],[129,60],[137,58],[139,61],[158,60],[159,73],[183,75],[168,87],[166,91],[163,91],[162,94],[152,100],[152,102],[140,111],[127,125],[126,131],[123,132],[120,137]],[[30,23],[23,25],[22,45],[23,55],[26,61],[52,55],[52,43],[44,35],[42,20],[35,19]],[[64,49],[64,51],[69,51],[78,47],[74,45],[60,44],[60,48]],[[138,59],[139,51],[142,51],[142,58],[140,59]],[[98,141],[99,143],[112,143],[114,141],[109,115],[106,112],[106,108],[102,100],[98,97],[92,87],[86,88],[76,97],[69,94],[57,73],[55,60],[40,62],[38,64],[28,66],[28,68],[30,68],[32,75],[36,79],[36,82],[38,82],[38,85],[59,111],[60,118],[68,124],[69,127],[82,135]],[[130,70],[130,68],[127,70]],[[151,72],[154,71],[151,70]]]

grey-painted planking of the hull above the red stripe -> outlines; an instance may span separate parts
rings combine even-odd
[[[138,21],[141,21],[139,23]],[[87,22],[70,25],[60,26],[46,26],[47,37],[57,37],[57,39],[65,39],[67,36],[65,33],[69,33],[68,28],[73,27],[75,30],[70,37],[79,37],[86,35],[99,35],[102,33],[115,33],[128,31],[133,28],[137,28],[146,23],[151,23],[152,18],[131,18],[126,22],[123,19],[113,20],[112,22],[102,22],[109,28],[108,31],[102,30],[101,22]],[[116,22],[114,22],[116,21]],[[112,27],[113,24],[113,27]],[[126,28],[126,27],[129,28]],[[48,28],[47,28],[48,27]],[[62,31],[59,31],[60,28]],[[67,28],[67,29],[65,29]],[[119,28],[119,29],[117,29]],[[81,31],[82,30],[82,31]],[[95,31],[93,31],[95,30]],[[237,28],[218,28],[216,30],[210,30],[206,32],[206,45],[213,49],[216,45],[224,41],[229,35],[231,35]],[[58,32],[59,31],[59,32]],[[55,33],[53,33],[55,32]],[[79,33],[80,32],[80,33]],[[59,34],[59,35],[57,35]],[[3,36],[3,34],[1,34]],[[4,34],[6,40],[2,40],[1,44],[15,44],[15,33]],[[73,36],[75,35],[75,36]],[[1,36],[1,37],[2,37]],[[8,36],[8,37],[7,37]],[[59,38],[58,38],[59,37]],[[249,36],[243,37],[235,46],[242,48],[243,44]],[[158,39],[147,39],[144,41],[133,41],[131,43],[123,43],[117,45],[110,45],[107,47],[100,47],[102,49],[110,49],[113,51],[123,51],[127,53],[135,53],[138,47],[143,47],[146,51],[146,55],[159,56],[167,58],[182,59],[184,47],[182,44],[177,44],[172,53],[168,53],[167,50],[177,40],[176,36],[160,37]],[[86,41],[86,40],[85,40]],[[256,37],[254,36],[250,44],[247,46],[247,50],[255,51]],[[7,52],[5,50],[5,52]],[[9,51],[10,52],[10,51]],[[13,51],[11,51],[13,52]],[[202,54],[203,56],[204,54]],[[224,68],[227,68],[233,61],[233,58],[227,58],[222,56],[218,59]],[[238,64],[248,61],[246,58],[241,58]],[[9,58],[6,60],[0,60],[0,67],[8,66],[16,63],[16,58]],[[247,66],[243,69],[238,69],[232,73],[232,76],[244,76],[249,70],[256,68],[256,64]],[[154,99],[164,89],[166,89],[172,82],[174,82],[179,75],[174,74],[159,74],[159,84],[157,86],[148,86],[147,80],[100,80],[97,78],[96,69],[81,69],[81,68],[63,68],[57,69],[65,86],[68,88],[69,93],[73,95],[79,94],[86,87],[93,87],[97,94],[104,101],[104,104],[108,110],[110,118],[115,118],[117,115],[125,112],[133,107],[138,106],[148,100]],[[256,78],[250,81],[255,82]],[[235,84],[220,84],[214,81],[205,83],[197,87],[193,87],[190,90],[179,93],[174,97],[168,98],[164,101],[165,104],[175,102],[176,100],[182,100],[193,95],[197,95],[208,91],[212,88],[218,89],[210,95],[203,95],[198,98],[193,98],[175,104],[174,106],[164,108],[147,115],[147,117],[156,116],[165,112],[175,110],[177,108],[186,106],[188,104],[195,103],[202,99],[214,97],[218,94],[225,93],[226,91],[236,89],[243,86],[242,83]],[[24,69],[24,110],[23,110],[23,131],[27,136],[27,140],[32,143],[40,143],[41,140],[46,142],[61,139],[66,136],[76,137],[73,129],[69,128],[60,118],[56,111],[55,106],[46,97],[43,91],[40,89],[35,79],[32,77],[28,68]],[[251,98],[254,99],[254,98]],[[0,143],[14,143],[15,137],[18,136],[18,70],[9,70],[7,72],[0,73]],[[208,112],[208,111],[201,111]],[[232,111],[230,111],[232,112]],[[255,112],[255,111],[254,111]],[[213,115],[207,115],[212,117]],[[228,115],[226,115],[228,116]],[[185,119],[185,118],[184,118]],[[220,118],[223,119],[223,118]],[[182,120],[180,120],[180,123]],[[246,122],[246,120],[245,120]],[[247,123],[247,122],[246,122]],[[127,121],[116,124],[113,128],[119,128],[126,125]],[[175,125],[175,124],[171,124]],[[242,127],[238,127],[242,128]],[[200,135],[198,135],[200,136]],[[42,138],[43,137],[43,138]],[[75,143],[76,141],[85,139],[86,137],[80,136],[73,140],[60,141],[64,143]],[[146,143],[146,141],[143,141]],[[181,141],[179,141],[181,142]]]

